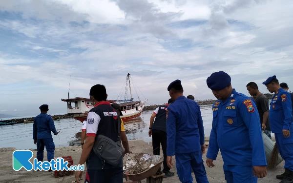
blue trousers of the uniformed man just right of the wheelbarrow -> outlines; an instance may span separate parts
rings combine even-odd
[[[175,154],[176,168],[181,183],[192,183],[191,168],[197,183],[209,183],[202,152]]]

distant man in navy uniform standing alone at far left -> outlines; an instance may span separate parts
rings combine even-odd
[[[47,115],[49,106],[43,104],[40,107],[41,114],[34,118],[33,139],[37,144],[37,159],[42,162],[44,158],[44,147],[47,150],[47,160],[50,162],[54,159],[55,144],[51,135],[51,131],[54,135],[57,135],[53,119]],[[49,171],[52,171],[51,169]]]

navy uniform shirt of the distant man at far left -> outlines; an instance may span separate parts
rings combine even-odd
[[[41,113],[34,119],[33,139],[52,138],[51,131],[57,134],[55,125],[51,116]]]

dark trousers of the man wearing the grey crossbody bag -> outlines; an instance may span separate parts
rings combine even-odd
[[[84,183],[123,183],[123,168],[87,170]]]

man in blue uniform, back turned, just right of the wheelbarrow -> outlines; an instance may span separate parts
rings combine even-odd
[[[174,102],[167,108],[167,164],[172,168],[172,156],[182,183],[192,183],[191,168],[197,183],[209,183],[202,160],[205,151],[203,120],[198,103],[183,96],[180,80],[167,90]]]

